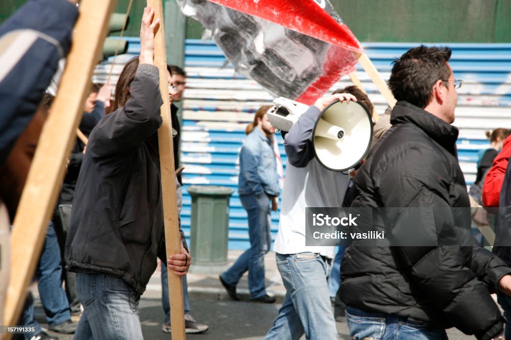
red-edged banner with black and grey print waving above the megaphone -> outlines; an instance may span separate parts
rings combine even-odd
[[[200,21],[208,30],[236,72],[257,81],[274,97],[290,98],[305,104],[314,103],[342,75],[354,71],[357,59],[353,52],[362,51],[358,40],[342,24],[328,1],[324,8],[318,5],[313,8],[318,11],[317,15],[328,17],[330,24],[333,24],[325,26],[322,32],[316,22],[318,30],[315,35],[332,35],[332,26],[336,26],[344,34],[344,40],[335,40],[336,44],[285,28],[296,27],[300,20],[309,20],[310,13],[300,16],[304,14],[303,11],[299,13],[283,9],[275,16],[279,22],[275,24],[258,17],[268,14],[264,13],[268,11],[267,8],[265,11],[261,9],[258,16],[254,16],[205,0],[177,2],[184,15]],[[272,4],[274,11],[278,3]],[[240,8],[250,13],[257,10],[252,8],[249,11],[247,6],[245,4],[245,7]],[[266,17],[275,20],[271,15]],[[301,28],[306,26],[304,22]]]

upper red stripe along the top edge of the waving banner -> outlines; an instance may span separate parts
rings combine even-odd
[[[209,0],[307,34],[344,49],[363,53],[350,29],[337,22],[315,0]]]

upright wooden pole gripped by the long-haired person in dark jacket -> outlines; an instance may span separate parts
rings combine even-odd
[[[181,236],[177,216],[176,173],[174,168],[174,146],[172,141],[172,120],[170,112],[169,83],[167,80],[167,54],[161,0],[147,0],[154,9],[154,19],[160,19],[160,28],[154,37],[154,64],[159,69],[162,125],[158,130],[158,144],[161,169],[161,191],[165,220],[165,244],[167,256],[181,253]],[[166,265],[166,263],[162,263]],[[172,324],[172,339],[186,338],[184,332],[184,301],[181,277],[168,270],[169,301]]]

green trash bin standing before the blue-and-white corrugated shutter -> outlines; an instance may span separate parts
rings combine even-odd
[[[229,198],[234,190],[220,186],[190,186],[191,273],[222,273],[227,267]]]

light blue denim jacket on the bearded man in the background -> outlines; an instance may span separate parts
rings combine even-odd
[[[238,193],[278,196],[278,174],[275,154],[266,135],[255,127],[243,141],[240,150]]]

